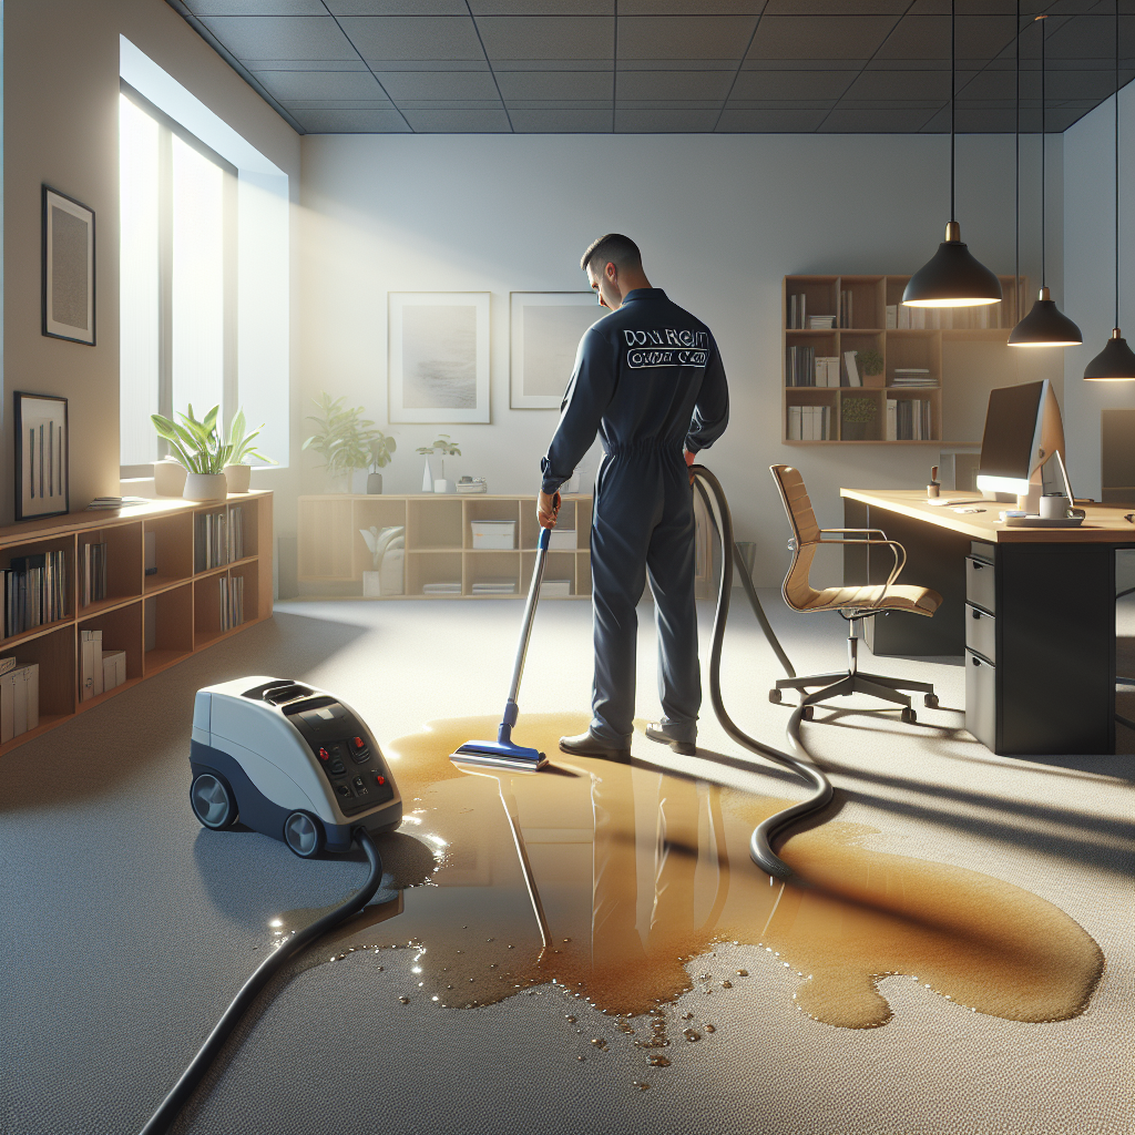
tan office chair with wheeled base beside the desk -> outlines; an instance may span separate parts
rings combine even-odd
[[[910,697],[902,690],[913,690],[924,696],[924,703],[930,708],[938,705],[938,696],[930,682],[911,682],[906,679],[882,678],[878,674],[864,674],[858,667],[858,624],[868,615],[886,611],[909,611],[916,615],[933,615],[942,605],[942,596],[926,587],[897,585],[902,566],[907,560],[906,549],[901,544],[889,540],[881,528],[821,528],[816,514],[808,499],[804,478],[799,470],[791,465],[771,465],[773,480],[780,489],[784,511],[792,526],[792,564],[784,577],[781,594],[784,602],[793,609],[805,614],[815,611],[838,611],[848,621],[848,670],[847,673],[810,674],[804,678],[783,678],[768,691],[768,700],[779,703],[781,691],[785,689],[800,691],[800,704],[804,705],[804,716],[812,718],[813,703],[833,697],[846,697],[850,693],[869,693],[902,707],[902,720],[914,722],[915,712],[910,707]],[[856,537],[848,539],[848,536]],[[817,591],[809,582],[808,574],[816,548],[827,544],[866,544],[884,545],[894,556],[894,566],[886,582],[865,587],[825,587]],[[807,693],[810,686],[823,689],[817,693]]]

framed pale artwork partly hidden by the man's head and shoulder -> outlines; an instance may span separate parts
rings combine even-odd
[[[508,405],[558,410],[583,333],[607,314],[594,292],[512,292]]]

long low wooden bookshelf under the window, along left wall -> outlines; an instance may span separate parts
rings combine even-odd
[[[244,511],[239,561],[194,574],[197,513]],[[157,572],[145,574],[146,535],[154,537]],[[81,605],[78,568],[84,544],[107,545],[107,598]],[[40,665],[40,725],[0,746],[0,756],[56,725],[86,713],[221,638],[272,614],[272,494],[233,494],[225,503],[153,501],[134,508],[79,512],[0,529],[0,566],[14,556],[62,549],[64,619],[0,638],[0,657]],[[220,631],[216,582],[244,577],[244,622]],[[2,624],[0,624],[2,625]],[[102,631],[104,650],[126,653],[126,682],[86,701],[79,690],[79,631]]]

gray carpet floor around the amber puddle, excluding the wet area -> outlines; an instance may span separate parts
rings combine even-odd
[[[765,598],[798,670],[840,664],[838,620],[791,616],[775,592]],[[304,678],[351,701],[387,740],[430,718],[497,712],[519,614],[510,602],[280,604],[271,622],[6,757],[0,1129],[138,1129],[263,956],[269,920],[340,899],[363,876],[359,857],[303,863],[266,838],[197,826],[187,804],[195,689],[244,674]],[[642,614],[639,714],[651,717]],[[540,609],[522,709],[586,708],[589,617],[586,604]],[[1079,922],[1107,959],[1085,1014],[1007,1022],[893,977],[882,984],[890,1024],[838,1029],[792,1008],[793,984],[764,951],[722,947],[691,972],[746,967],[753,977],[720,993],[713,1037],[672,1049],[672,1067],[642,1092],[641,1053],[591,1050],[587,1037],[604,1019],[582,1010],[577,1034],[550,991],[471,1011],[406,1009],[388,994],[409,978],[410,951],[384,952],[381,972],[373,955],[351,955],[274,984],[176,1129],[1129,1132],[1132,758],[993,756],[960,729],[960,662],[872,665],[932,675],[948,708],[919,709],[915,726],[873,716],[806,726],[838,790],[833,814],[875,829],[868,846],[881,852],[1007,880]],[[787,711],[767,701],[775,661],[745,609],[725,667],[735,716],[780,743]],[[787,775],[747,767],[712,717],[699,743],[737,759],[667,762],[762,794],[799,794]],[[634,751],[663,757],[639,738]],[[397,919],[388,925],[395,934]]]

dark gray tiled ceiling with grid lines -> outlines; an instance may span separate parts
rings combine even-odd
[[[167,0],[304,133],[944,133],[950,0]],[[959,133],[1014,129],[1015,0],[957,0]],[[1115,91],[1113,0],[1025,0],[1022,129]],[[1120,0],[1120,84],[1135,0]]]

